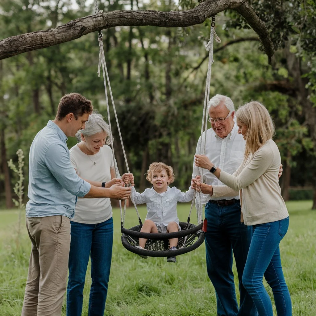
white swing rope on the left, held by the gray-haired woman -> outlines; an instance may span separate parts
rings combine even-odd
[[[102,66],[103,82],[104,82],[104,90],[105,90],[105,99],[106,99],[106,107],[107,107],[107,117],[108,117],[108,123],[109,123],[109,126],[110,126],[110,139],[112,139],[112,127],[111,127],[110,107],[109,107],[109,100],[108,100],[108,96],[107,96],[106,82],[107,82],[107,85],[108,85],[108,88],[109,88],[109,93],[110,93],[110,97],[111,97],[111,101],[112,101],[112,106],[113,106],[113,111],[114,111],[114,115],[115,115],[115,119],[116,119],[116,124],[117,124],[118,131],[119,131],[119,138],[120,138],[120,141],[121,141],[121,146],[122,146],[122,150],[123,150],[123,155],[124,155],[124,159],[125,159],[125,165],[126,165],[127,173],[130,173],[130,169],[128,167],[126,153],[125,153],[125,149],[124,149],[123,139],[122,139],[122,135],[121,135],[121,130],[119,128],[119,120],[118,120],[118,116],[117,116],[116,109],[115,109],[115,104],[114,104],[114,99],[113,99],[113,94],[112,94],[112,89],[111,89],[111,84],[110,84],[110,78],[109,78],[109,74],[107,72],[106,61],[105,61],[104,50],[103,50],[102,37],[99,36],[98,40],[99,40],[99,46],[100,46],[98,77],[100,77],[100,68]],[[113,142],[111,143],[111,147],[112,147],[113,161],[115,161]],[[116,166],[115,167],[115,177],[118,178],[118,175],[119,175],[119,173],[118,173],[118,169],[117,169],[117,166]],[[135,207],[135,210],[136,210],[138,218],[140,218],[138,210],[137,210],[137,206],[136,206],[134,198],[132,196],[131,196],[131,201],[134,204],[134,207]],[[126,211],[126,200],[124,202],[124,216],[122,215],[122,203],[121,203],[121,201],[119,201],[119,209],[120,209],[120,214],[121,214],[121,222],[123,223],[123,226],[124,226],[125,211]]]

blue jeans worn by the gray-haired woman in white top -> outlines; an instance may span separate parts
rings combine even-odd
[[[113,219],[99,224],[71,223],[67,316],[81,316],[83,287],[91,256],[89,316],[103,316],[109,282]]]

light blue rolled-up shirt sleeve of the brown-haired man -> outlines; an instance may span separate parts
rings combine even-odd
[[[71,194],[84,197],[90,191],[90,183],[76,174],[70,163],[69,153],[62,144],[54,143],[49,147],[45,163],[59,184]]]

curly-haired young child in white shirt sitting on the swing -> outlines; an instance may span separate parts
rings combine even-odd
[[[146,179],[153,185],[151,189],[145,189],[138,193],[132,188],[132,197],[135,204],[147,206],[147,216],[142,226],[142,233],[172,233],[181,230],[177,215],[177,202],[192,201],[194,190],[181,192],[175,186],[169,185],[174,181],[173,168],[163,162],[153,162],[149,166]],[[147,239],[139,238],[138,248],[145,249]],[[178,238],[169,239],[169,250],[176,250]],[[147,256],[140,255],[142,258]],[[176,262],[176,257],[170,254],[167,262]]]

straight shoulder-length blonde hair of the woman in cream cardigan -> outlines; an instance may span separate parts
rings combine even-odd
[[[256,152],[274,135],[274,124],[266,107],[258,101],[240,106],[236,120],[247,126],[245,157]]]

